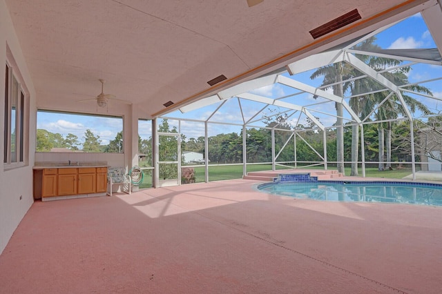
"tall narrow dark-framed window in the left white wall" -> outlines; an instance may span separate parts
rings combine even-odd
[[[25,87],[17,78],[19,72],[8,63],[5,76],[3,164],[13,168],[25,164],[26,95],[23,90]]]

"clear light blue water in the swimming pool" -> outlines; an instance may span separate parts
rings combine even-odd
[[[258,186],[275,195],[339,202],[390,202],[442,206],[442,185],[400,182],[283,182]]]

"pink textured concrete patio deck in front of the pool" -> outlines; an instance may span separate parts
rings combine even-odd
[[[36,202],[0,255],[0,293],[441,292],[442,208],[253,184]]]

